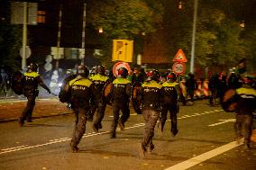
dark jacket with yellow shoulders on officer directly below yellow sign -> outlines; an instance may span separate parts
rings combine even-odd
[[[122,77],[118,77],[113,81],[113,100],[114,103],[129,103],[132,84],[131,82]]]

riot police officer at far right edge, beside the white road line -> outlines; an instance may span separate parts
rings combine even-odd
[[[255,110],[256,90],[252,87],[251,76],[243,78],[242,87],[236,89],[237,106],[235,111],[236,121],[234,131],[236,141],[240,143],[242,138],[242,126],[244,125],[244,143],[245,148],[251,148],[251,133],[253,122],[253,110]]]

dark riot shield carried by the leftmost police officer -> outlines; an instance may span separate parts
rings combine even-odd
[[[11,76],[11,88],[15,94],[23,94],[23,83],[22,83],[23,74],[19,71],[16,71]]]

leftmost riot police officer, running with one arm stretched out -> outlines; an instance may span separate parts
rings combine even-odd
[[[38,85],[41,85],[50,94],[50,89],[43,83],[41,75],[37,73],[37,68],[37,64],[31,63],[28,71],[23,74],[21,79],[23,94],[28,102],[21,117],[18,119],[20,126],[23,126],[25,120],[32,122],[32,111],[35,105],[35,99],[39,94]]]

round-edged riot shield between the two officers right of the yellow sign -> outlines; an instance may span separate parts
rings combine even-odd
[[[134,84],[133,85],[133,94],[132,94],[132,103],[133,109],[137,114],[142,114],[142,99],[140,99],[140,91],[142,89],[141,84]]]

